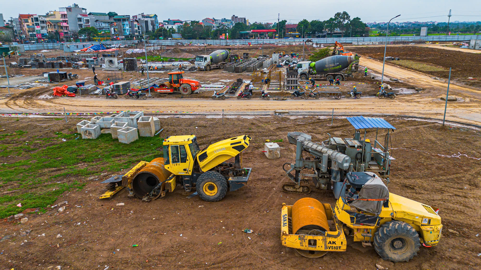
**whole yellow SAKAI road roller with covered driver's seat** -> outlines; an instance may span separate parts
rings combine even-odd
[[[348,192],[341,194],[334,209],[313,198],[283,204],[282,246],[319,258],[328,251],[346,251],[349,235],[364,247],[374,243],[384,260],[407,262],[421,244],[438,244],[443,229],[439,209],[390,193],[374,173],[347,173],[344,185]]]

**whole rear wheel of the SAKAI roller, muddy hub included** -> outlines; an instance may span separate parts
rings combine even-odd
[[[418,232],[405,222],[387,222],[374,234],[374,249],[383,260],[408,262],[420,246]]]

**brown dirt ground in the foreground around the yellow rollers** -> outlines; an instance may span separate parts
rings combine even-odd
[[[253,168],[249,184],[217,203],[199,197],[186,199],[188,193],[179,187],[163,199],[145,203],[128,198],[126,190],[112,200],[99,200],[104,191],[100,182],[110,175],[98,180],[80,178],[77,180],[86,186],[65,192],[56,202],[67,201],[65,211],[58,212],[56,206],[42,214],[29,214],[25,224],[0,223],[0,238],[4,238],[0,241],[0,265],[8,269],[56,265],[62,269],[376,269],[376,263],[389,269],[481,267],[481,213],[477,210],[481,207],[480,131],[386,118],[397,128],[392,136],[396,160],[391,166],[389,190],[440,208],[444,225],[438,246],[421,248],[408,263],[391,263],[380,259],[374,248],[362,248],[352,240],[347,252],[331,252],[319,259],[299,257],[280,243],[282,203],[292,205],[305,196],[281,191],[281,185],[288,181],[281,166],[295,158],[295,146],[288,143],[287,133],[301,131],[313,135],[315,141],[326,139],[327,133],[351,137],[354,129],[346,119],[336,118],[329,126],[331,119],[319,117],[235,117],[225,118],[224,123],[221,118],[176,117],[162,118],[164,131],[160,136],[193,133],[201,148],[241,134],[252,136],[243,159],[246,167]],[[2,119],[3,132],[24,129],[38,121],[42,124],[18,143],[48,135],[46,132],[74,133],[70,123],[81,120],[70,118],[69,124],[59,124],[48,118],[15,119]],[[367,137],[374,135],[368,132]],[[280,159],[268,160],[261,152],[266,139],[283,139],[278,142]],[[0,162],[10,161],[2,158]],[[57,173],[61,169],[52,174]],[[72,178],[60,177],[58,181],[65,179]],[[309,196],[335,203],[330,191],[313,188]],[[242,232],[245,228],[254,233]]]

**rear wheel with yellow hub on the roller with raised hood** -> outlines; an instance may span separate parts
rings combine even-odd
[[[222,200],[227,193],[227,180],[217,171],[206,171],[203,173],[195,188],[199,197],[206,202],[218,202]]]

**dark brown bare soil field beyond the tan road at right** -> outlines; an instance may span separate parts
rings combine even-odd
[[[384,56],[384,47],[382,46],[351,47],[350,49],[379,61],[382,61]],[[468,86],[481,87],[481,69],[479,69],[481,54],[448,51],[426,46],[389,46],[386,56],[442,67],[445,71],[425,71],[424,73],[446,80],[449,77],[449,68],[451,67],[451,80]],[[396,61],[388,61],[388,63],[397,65]],[[468,77],[473,78],[473,80],[468,80]]]

